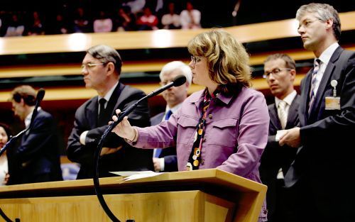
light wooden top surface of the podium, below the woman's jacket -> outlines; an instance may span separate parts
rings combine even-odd
[[[123,177],[107,177],[100,179],[100,187],[103,191],[122,191],[124,193],[135,193],[144,189],[146,192],[159,192],[165,187],[169,191],[180,190],[183,187],[196,188],[202,184],[212,187],[224,187],[238,189],[245,192],[266,193],[267,187],[249,179],[239,177],[229,172],[217,169],[196,170],[185,172],[168,172],[155,177],[146,177],[120,183]],[[35,196],[59,196],[70,194],[72,196],[82,194],[94,194],[92,179],[79,179],[72,181],[45,182],[36,184],[18,184],[0,187],[0,199],[24,198]]]

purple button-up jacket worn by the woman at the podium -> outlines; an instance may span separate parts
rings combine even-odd
[[[178,168],[186,169],[197,123],[201,116],[203,90],[189,96],[178,113],[157,126],[138,129],[137,148],[176,145]],[[207,111],[200,169],[218,168],[261,182],[258,167],[268,142],[269,115],[261,92],[242,88],[236,96],[219,94]]]

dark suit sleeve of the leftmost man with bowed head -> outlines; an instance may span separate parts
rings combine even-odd
[[[38,114],[33,121],[33,128],[28,135],[23,135],[21,145],[16,150],[17,160],[28,162],[44,152],[45,146],[54,136],[53,126],[55,123],[52,116]]]

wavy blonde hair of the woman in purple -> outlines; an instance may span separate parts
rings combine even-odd
[[[209,78],[219,84],[219,91],[234,94],[241,87],[251,87],[249,55],[230,33],[219,29],[200,33],[187,49],[191,55],[207,58]]]

